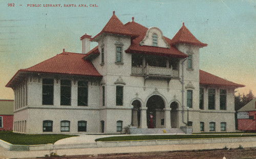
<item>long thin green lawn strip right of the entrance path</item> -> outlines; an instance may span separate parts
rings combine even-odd
[[[168,139],[241,138],[256,137],[256,134],[193,134],[193,135],[125,135],[122,137],[100,138],[95,141],[136,141]]]

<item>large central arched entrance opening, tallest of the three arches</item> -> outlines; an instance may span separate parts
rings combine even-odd
[[[158,96],[150,97],[146,102],[146,117],[148,128],[164,127],[164,101]]]

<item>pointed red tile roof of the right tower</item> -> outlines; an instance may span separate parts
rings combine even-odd
[[[187,44],[193,44],[195,46],[199,47],[206,47],[206,43],[200,42],[184,25],[184,22],[182,24],[182,27],[180,30],[174,35],[172,41],[170,44],[175,46],[177,43],[187,43]]]

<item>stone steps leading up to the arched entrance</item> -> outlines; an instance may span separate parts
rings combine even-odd
[[[185,134],[184,131],[182,131],[179,128],[134,128],[130,127],[131,134]]]

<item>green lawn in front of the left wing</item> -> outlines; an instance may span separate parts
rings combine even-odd
[[[0,131],[0,139],[14,145],[53,144],[64,138],[75,137],[66,134],[21,134],[10,131]]]

